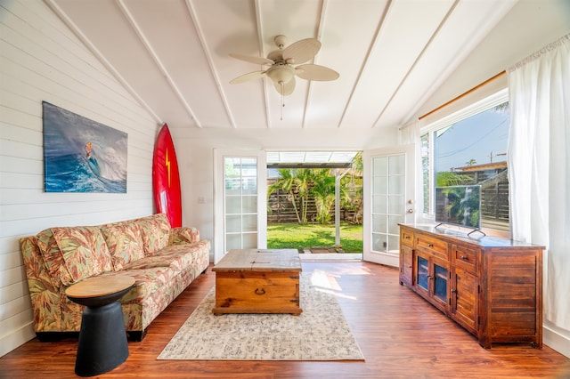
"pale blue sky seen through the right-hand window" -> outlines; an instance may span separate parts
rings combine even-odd
[[[450,171],[452,167],[468,165],[475,159],[477,165],[506,161],[509,138],[509,108],[487,109],[463,119],[436,138],[436,172]]]

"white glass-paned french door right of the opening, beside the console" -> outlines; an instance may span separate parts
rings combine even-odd
[[[362,258],[397,267],[398,224],[414,221],[414,147],[365,150],[362,166]]]

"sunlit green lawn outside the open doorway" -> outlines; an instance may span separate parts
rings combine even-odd
[[[297,223],[267,225],[267,248],[302,249],[335,245],[335,226]],[[345,253],[362,253],[362,225],[340,224],[340,245]]]

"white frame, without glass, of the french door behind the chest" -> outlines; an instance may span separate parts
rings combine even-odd
[[[267,247],[267,163],[265,150],[214,149],[214,263],[225,249],[224,157],[257,160],[257,248]]]

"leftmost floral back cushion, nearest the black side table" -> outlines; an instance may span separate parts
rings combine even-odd
[[[61,250],[62,265],[69,272],[61,277],[64,285],[112,270],[109,249],[99,228],[79,226],[52,230]]]

